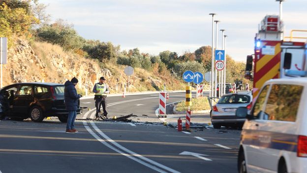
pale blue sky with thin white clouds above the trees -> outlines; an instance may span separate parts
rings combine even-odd
[[[212,17],[226,29],[226,52],[238,61],[253,54],[254,36],[265,15],[278,15],[275,0],[39,0],[52,21],[63,19],[86,39],[111,41],[122,50],[182,55],[212,44]],[[307,0],[283,3],[285,35],[307,29]],[[305,34],[307,36],[307,33]],[[221,31],[218,49],[221,49]],[[304,40],[305,41],[305,40]]]

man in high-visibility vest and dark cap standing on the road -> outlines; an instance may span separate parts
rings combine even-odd
[[[108,85],[105,83],[105,78],[101,77],[99,79],[99,83],[96,83],[94,85],[94,88],[92,90],[93,93],[95,93],[95,107],[96,107],[96,119],[99,119],[100,114],[100,108],[102,105],[103,109],[103,116],[107,117],[107,111],[106,111],[106,104],[107,104],[107,93],[110,93]],[[100,114],[101,115],[101,114]]]

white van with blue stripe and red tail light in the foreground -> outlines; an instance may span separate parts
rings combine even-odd
[[[307,173],[307,78],[267,81],[236,115],[246,117],[239,173]]]

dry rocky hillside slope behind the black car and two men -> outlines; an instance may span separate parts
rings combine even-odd
[[[98,61],[64,52],[60,46],[46,42],[29,44],[26,40],[18,39],[8,51],[7,62],[3,65],[3,86],[19,82],[63,84],[67,79],[76,77],[79,80],[77,88],[84,93],[86,87],[91,91],[98,79],[104,76],[111,91],[121,93],[127,83],[124,66],[99,64]],[[161,74],[159,77],[136,68],[130,76],[130,91],[162,89],[165,81],[167,89],[183,88],[178,80],[168,79],[167,75]]]

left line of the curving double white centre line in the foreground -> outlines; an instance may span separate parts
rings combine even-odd
[[[86,123],[86,124],[87,124],[87,123]],[[93,123],[93,124],[94,124],[94,123]],[[129,159],[132,159],[132,160],[134,160],[134,161],[136,161],[136,162],[138,162],[138,163],[140,163],[140,164],[142,164],[142,165],[144,165],[144,166],[146,166],[146,167],[148,167],[148,168],[151,168],[151,169],[153,169],[154,171],[157,171],[157,172],[159,172],[159,173],[167,173],[167,172],[165,172],[165,171],[163,171],[163,170],[161,170],[161,169],[158,169],[158,168],[156,168],[156,167],[154,167],[154,166],[152,166],[152,165],[150,165],[150,164],[148,164],[148,163],[143,162],[143,161],[140,160],[140,159],[137,159],[137,158],[135,158],[135,157],[133,157],[133,156],[131,156],[131,155],[129,155],[129,154],[124,153],[123,151],[121,151],[121,150],[119,150],[119,149],[113,147],[111,144],[108,144],[108,143],[105,142],[103,139],[101,139],[98,135],[96,135],[96,134],[92,131],[92,129],[91,129],[89,126],[86,126],[86,125],[85,125],[85,128],[88,130],[88,132],[89,132],[94,138],[96,138],[100,143],[106,145],[106,146],[109,147],[110,149],[112,149],[112,150],[114,150],[114,151],[116,151],[116,152],[122,154],[123,156],[126,156],[126,157],[128,157]],[[97,130],[96,130],[96,131],[97,131]]]

